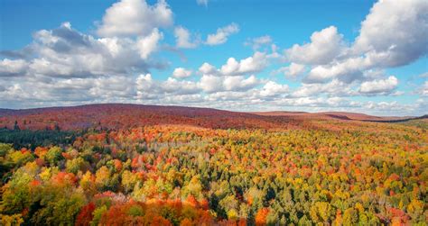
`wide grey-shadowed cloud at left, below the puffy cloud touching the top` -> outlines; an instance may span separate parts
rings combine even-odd
[[[162,37],[154,29],[137,39],[97,39],[63,23],[51,31],[35,32],[33,43],[24,49],[28,51],[27,59],[3,59],[0,75],[94,77],[145,72],[162,67],[149,59]]]

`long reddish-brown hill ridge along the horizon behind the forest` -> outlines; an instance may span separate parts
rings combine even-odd
[[[311,120],[402,121],[409,117],[377,117],[363,113],[238,113],[211,108],[143,104],[88,104],[23,110],[0,109],[0,127],[29,130],[120,129],[156,124],[185,124],[214,129],[304,128]]]

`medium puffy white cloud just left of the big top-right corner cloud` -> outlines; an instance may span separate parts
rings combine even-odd
[[[313,32],[311,42],[301,45],[294,44],[285,50],[286,57],[300,64],[328,64],[344,50],[343,36],[334,26],[320,32]]]

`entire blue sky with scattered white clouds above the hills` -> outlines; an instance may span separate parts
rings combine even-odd
[[[428,1],[0,0],[0,108],[428,113]]]

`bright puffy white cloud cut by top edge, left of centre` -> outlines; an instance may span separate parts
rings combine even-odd
[[[145,36],[172,23],[172,10],[164,0],[155,5],[145,0],[121,0],[107,9],[97,32],[102,37]]]

